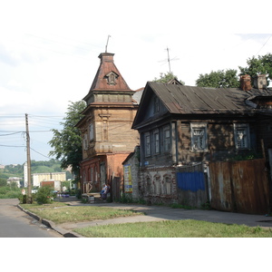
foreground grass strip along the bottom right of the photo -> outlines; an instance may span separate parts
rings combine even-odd
[[[193,219],[76,228],[87,238],[271,238],[272,231]]]

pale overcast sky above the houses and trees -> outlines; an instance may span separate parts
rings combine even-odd
[[[248,1],[187,2],[2,1],[0,164],[26,160],[25,113],[31,159],[49,160],[50,130],[61,129],[69,101],[89,92],[108,35],[108,52],[132,90],[169,72],[167,48],[171,71],[187,85],[271,53],[268,1],[251,9]]]

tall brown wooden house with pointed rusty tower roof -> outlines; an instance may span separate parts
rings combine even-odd
[[[88,94],[83,119],[76,125],[82,132],[83,193],[102,189],[114,177],[122,179],[122,161],[139,144],[138,131],[131,129],[138,109],[135,93],[113,62],[113,53],[101,53],[98,71]]]

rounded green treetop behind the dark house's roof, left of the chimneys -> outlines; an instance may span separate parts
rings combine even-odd
[[[211,73],[199,74],[199,79],[196,81],[199,87],[211,87],[211,88],[238,88],[238,75],[237,70],[228,69],[219,70],[217,72],[211,71]]]

